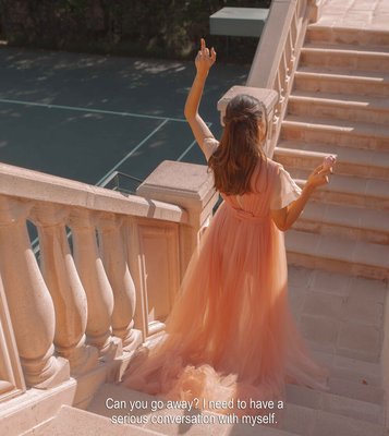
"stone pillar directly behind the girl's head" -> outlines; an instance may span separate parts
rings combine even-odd
[[[275,106],[278,102],[279,96],[278,93],[273,89],[267,88],[256,88],[251,86],[232,86],[218,101],[218,110],[220,111],[220,123],[224,125],[223,118],[226,114],[226,108],[229,101],[239,94],[248,94],[259,101],[262,101],[266,107],[267,114],[267,140],[264,145],[264,152],[267,157],[270,159],[275,153],[276,144],[272,141],[275,124],[273,124],[273,116],[275,116]]]

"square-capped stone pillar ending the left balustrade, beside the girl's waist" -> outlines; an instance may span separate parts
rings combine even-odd
[[[211,173],[207,166],[165,160],[141,184],[136,193],[146,198],[178,205],[187,211],[189,223],[180,226],[182,279],[218,201]]]

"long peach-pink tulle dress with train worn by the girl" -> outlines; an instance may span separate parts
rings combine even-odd
[[[217,145],[205,142],[207,158]],[[165,337],[139,349],[123,386],[166,399],[205,399],[200,404],[282,399],[285,383],[326,389],[327,373],[308,356],[288,306],[283,233],[270,217],[301,190],[270,159],[258,162],[251,184],[252,193],[222,195]]]

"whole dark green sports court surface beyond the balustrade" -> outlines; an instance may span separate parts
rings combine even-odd
[[[160,161],[178,159],[194,140],[185,122],[170,120],[145,141],[163,119],[183,119],[194,73],[193,62],[3,47],[0,160],[96,184],[144,142],[117,168],[144,179]],[[247,65],[220,63],[210,72],[200,111],[216,136],[221,132],[217,101],[232,85],[244,84],[247,73]],[[205,164],[196,144],[182,160]]]

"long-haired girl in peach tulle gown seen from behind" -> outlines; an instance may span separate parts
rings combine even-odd
[[[287,382],[326,388],[326,374],[308,358],[288,307],[282,231],[331,171],[316,168],[301,190],[264,155],[265,108],[247,95],[229,102],[216,141],[198,114],[215,61],[202,39],[185,118],[223,203],[191,259],[167,335],[137,353],[123,384],[169,399],[200,399],[205,409],[226,401],[229,407],[219,410],[226,413],[232,401],[234,412],[246,414],[238,400],[282,398]]]

